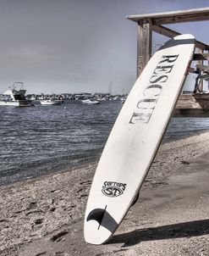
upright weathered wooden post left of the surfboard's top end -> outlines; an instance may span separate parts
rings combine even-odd
[[[138,23],[137,77],[151,58],[151,24],[145,19]]]

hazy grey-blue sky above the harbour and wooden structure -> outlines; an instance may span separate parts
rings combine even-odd
[[[208,7],[208,0],[0,0],[0,92],[129,92],[136,30],[128,14]],[[208,43],[208,22],[170,26]],[[154,43],[162,43],[154,36]]]

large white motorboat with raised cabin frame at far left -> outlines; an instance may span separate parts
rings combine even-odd
[[[13,86],[9,86],[8,90],[0,95],[0,106],[34,106],[33,101],[25,97],[25,92],[23,82],[15,82]]]

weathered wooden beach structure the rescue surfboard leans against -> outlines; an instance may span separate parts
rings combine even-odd
[[[168,37],[179,36],[180,33],[178,31],[173,31],[164,25],[209,20],[209,8],[196,8],[184,11],[166,12],[161,14],[129,15],[126,18],[135,21],[138,25],[137,75],[139,76],[151,58],[152,32],[157,32],[162,36]],[[202,70],[207,69],[206,65],[203,67],[203,61],[209,60],[209,46],[205,42],[196,40],[195,47],[199,49],[199,53],[194,54],[193,61],[197,61],[199,68],[197,70],[190,69],[190,72],[199,72],[201,77]],[[209,72],[207,73],[209,74]],[[199,82],[199,85],[197,85],[197,82]],[[194,87],[196,87],[195,92],[198,92],[198,87],[201,91],[200,86],[202,87],[201,81],[196,80],[196,85],[194,83]],[[191,111],[191,109],[194,109],[194,111]],[[201,114],[207,114],[208,116],[209,94],[181,95],[176,107],[176,114],[197,116],[200,116]]]

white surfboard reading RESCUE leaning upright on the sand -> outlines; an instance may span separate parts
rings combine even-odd
[[[178,100],[194,49],[194,36],[174,37],[151,57],[135,82],[96,169],[85,211],[85,242],[107,242],[134,202]]]

